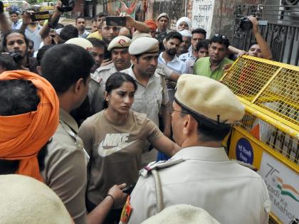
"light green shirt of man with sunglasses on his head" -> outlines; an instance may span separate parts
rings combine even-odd
[[[229,58],[224,58],[220,65],[214,71],[211,71],[210,58],[199,58],[199,60],[196,60],[196,63],[194,64],[194,74],[206,76],[213,80],[220,80],[222,75],[224,75],[224,65],[229,65],[232,63],[234,63],[234,61],[229,60]]]

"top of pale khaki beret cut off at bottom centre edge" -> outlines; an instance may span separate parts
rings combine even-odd
[[[189,205],[169,206],[157,213],[142,224],[220,224],[216,219],[202,208]]]

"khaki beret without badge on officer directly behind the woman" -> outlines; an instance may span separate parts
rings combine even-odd
[[[131,55],[140,55],[142,53],[158,53],[159,41],[155,38],[141,37],[132,41],[129,47],[129,53]]]

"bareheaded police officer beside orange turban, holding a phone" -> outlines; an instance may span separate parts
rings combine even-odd
[[[112,206],[117,203],[119,206],[125,199],[120,191],[124,186],[114,186],[109,191],[110,196],[86,215],[88,154],[77,135],[78,124],[70,111],[79,107],[87,96],[93,63],[87,50],[73,44],[54,46],[41,62],[41,74],[56,90],[60,107],[59,125],[47,146],[42,176],[61,198],[75,223],[80,224],[102,223]]]

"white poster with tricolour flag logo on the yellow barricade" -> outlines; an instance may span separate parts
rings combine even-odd
[[[272,213],[283,223],[299,218],[298,173],[266,152],[263,152],[258,173],[266,182],[272,201]]]

